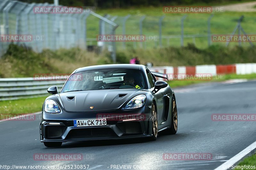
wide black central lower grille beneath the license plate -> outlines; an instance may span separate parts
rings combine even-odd
[[[84,138],[84,137],[109,137],[116,136],[111,128],[81,128],[72,129],[68,133],[67,139]]]

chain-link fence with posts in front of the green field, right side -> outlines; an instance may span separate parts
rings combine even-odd
[[[119,25],[116,34],[143,34],[146,41],[117,42],[117,49],[180,47],[188,43],[198,48],[210,45],[221,46],[253,46],[256,41],[213,41],[213,35],[252,35],[256,18],[241,14],[193,14],[163,16],[110,16]],[[241,21],[239,21],[242,18]],[[240,23],[240,27],[237,26]],[[235,29],[237,27],[237,29]]]

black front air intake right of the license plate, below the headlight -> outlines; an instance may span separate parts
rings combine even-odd
[[[139,121],[121,122],[118,127],[126,134],[141,134],[141,126]]]

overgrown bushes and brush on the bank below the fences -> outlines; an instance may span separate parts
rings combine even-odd
[[[200,64],[256,63],[255,47],[233,47],[212,45],[198,49],[193,44],[186,47],[165,47],[156,49],[131,49],[116,52],[116,63],[129,63],[138,56],[141,64],[154,66],[188,66]],[[100,55],[79,48],[43,50],[36,53],[30,48],[10,44],[0,59],[0,77],[33,77],[40,73],[70,74],[79,67],[111,64],[108,51]]]

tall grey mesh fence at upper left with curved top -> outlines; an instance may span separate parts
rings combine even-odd
[[[64,11],[61,11],[63,9]],[[87,39],[87,30],[95,30],[98,33],[100,30],[95,23],[101,20],[104,27],[117,27],[114,22],[94,13],[92,9],[0,0],[0,55],[12,42],[37,52],[43,49],[72,47],[87,49],[86,42],[90,41]],[[89,15],[92,18],[91,25],[87,24]]]

